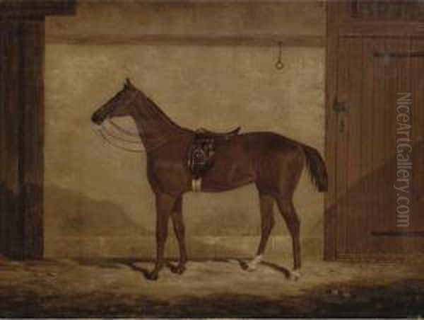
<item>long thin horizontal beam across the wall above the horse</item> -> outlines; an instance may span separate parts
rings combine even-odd
[[[47,36],[50,44],[71,45],[239,45],[274,47],[324,47],[325,38],[314,35],[59,35]]]

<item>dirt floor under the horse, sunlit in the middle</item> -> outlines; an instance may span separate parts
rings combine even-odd
[[[286,278],[288,261],[254,272],[242,263],[194,261],[184,275],[124,259],[0,259],[1,317],[411,316],[424,314],[421,263],[306,261],[302,278]]]

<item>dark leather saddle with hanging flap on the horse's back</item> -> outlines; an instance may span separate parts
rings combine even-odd
[[[196,130],[192,145],[189,147],[188,166],[194,181],[198,181],[212,168],[215,162],[216,142],[228,141],[239,134],[240,127],[229,132],[213,132],[204,128]]]

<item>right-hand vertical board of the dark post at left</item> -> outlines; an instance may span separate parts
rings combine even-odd
[[[44,211],[44,53],[45,23],[23,23],[23,119],[20,174],[24,258],[43,256]]]

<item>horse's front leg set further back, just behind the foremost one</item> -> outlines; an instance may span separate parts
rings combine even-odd
[[[174,210],[171,213],[172,224],[174,225],[175,236],[177,237],[179,246],[179,262],[175,268],[172,268],[173,273],[181,275],[185,271],[185,264],[187,263],[187,250],[184,240],[184,221],[182,219],[182,196],[177,198]]]

